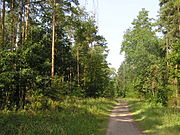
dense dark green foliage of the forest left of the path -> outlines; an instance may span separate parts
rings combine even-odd
[[[66,95],[106,96],[111,81],[107,47],[105,39],[97,34],[94,17],[78,7],[77,0],[56,1],[54,9],[53,1],[29,2],[28,7],[28,1],[6,1],[6,40],[0,50],[0,108],[18,110],[34,104],[41,109],[41,100],[46,98],[57,101]],[[50,77],[53,10],[54,80]]]

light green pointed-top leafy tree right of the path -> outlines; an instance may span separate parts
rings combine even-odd
[[[164,51],[161,39],[153,30],[152,20],[148,18],[148,11],[143,9],[124,35],[121,52],[125,52],[126,59],[118,72],[119,94],[139,96],[166,105]]]

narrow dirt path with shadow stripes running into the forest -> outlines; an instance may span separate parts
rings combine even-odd
[[[110,115],[106,135],[143,135],[135,125],[126,101],[118,100]]]

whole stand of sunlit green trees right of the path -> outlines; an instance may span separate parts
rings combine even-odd
[[[160,0],[157,20],[142,9],[121,44],[125,61],[116,77],[123,97],[133,96],[164,106],[180,104],[180,2]]]

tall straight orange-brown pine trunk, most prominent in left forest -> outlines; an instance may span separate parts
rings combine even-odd
[[[53,16],[52,16],[52,65],[51,65],[51,78],[54,80],[54,58],[55,58],[55,4],[56,0],[53,1]]]

